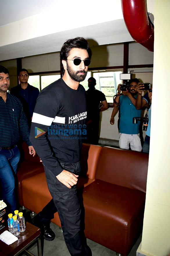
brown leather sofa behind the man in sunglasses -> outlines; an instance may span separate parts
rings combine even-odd
[[[38,213],[51,195],[42,164],[36,162],[33,173],[34,164],[25,160],[17,174],[20,202]],[[128,255],[142,232],[147,170],[148,154],[83,144],[78,192],[83,193],[87,238]],[[51,221],[61,226],[58,213]]]

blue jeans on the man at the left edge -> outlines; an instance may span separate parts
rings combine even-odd
[[[0,147],[0,179],[2,185],[2,199],[11,206],[11,212],[17,209],[15,199],[15,176],[20,152],[15,146],[12,149],[1,149]]]

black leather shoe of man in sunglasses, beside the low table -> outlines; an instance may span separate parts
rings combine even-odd
[[[31,223],[35,225],[36,227],[39,227],[41,230],[41,234],[44,236],[44,239],[48,241],[53,241],[55,238],[55,233],[53,230],[50,228],[50,223],[47,224],[42,224],[39,222],[36,218],[36,216],[31,220]]]

